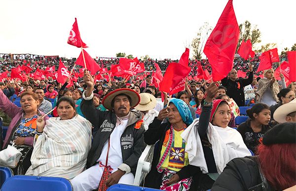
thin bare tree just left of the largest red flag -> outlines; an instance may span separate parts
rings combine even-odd
[[[207,39],[210,33],[213,31],[212,27],[209,26],[209,23],[204,23],[203,26],[199,28],[197,35],[193,38],[191,46],[193,49],[193,59],[200,60],[202,50],[207,42]]]

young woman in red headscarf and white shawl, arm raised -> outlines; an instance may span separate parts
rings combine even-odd
[[[231,118],[228,103],[222,99],[213,101],[217,92],[218,88],[212,83],[201,103],[200,118],[181,135],[187,143],[185,152],[189,164],[200,168],[191,185],[195,191],[211,189],[231,159],[251,156],[240,133],[227,126]]]

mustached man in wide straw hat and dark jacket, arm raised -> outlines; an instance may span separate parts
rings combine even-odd
[[[81,111],[96,128],[84,172],[72,180],[74,191],[106,191],[114,184],[132,185],[138,160],[144,151],[143,114],[130,111],[140,102],[135,91],[116,89],[102,100],[109,111],[99,111],[93,104],[94,79],[84,71],[87,85]]]

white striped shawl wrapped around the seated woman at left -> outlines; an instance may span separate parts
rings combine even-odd
[[[56,166],[84,168],[91,147],[91,128],[91,123],[80,115],[70,120],[49,118],[34,145],[31,157],[34,174]]]

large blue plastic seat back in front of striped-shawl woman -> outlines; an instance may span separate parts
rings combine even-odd
[[[73,188],[65,178],[17,175],[8,178],[1,191],[73,191]]]

